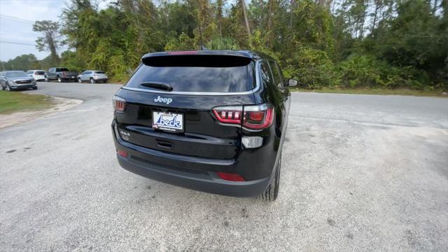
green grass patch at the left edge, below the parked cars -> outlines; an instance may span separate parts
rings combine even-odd
[[[38,111],[52,106],[50,97],[41,94],[0,91],[0,114],[18,111]]]

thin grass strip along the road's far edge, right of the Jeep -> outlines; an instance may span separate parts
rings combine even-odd
[[[321,92],[321,93],[334,93],[334,94],[383,94],[383,95],[410,95],[410,96],[423,96],[423,97],[448,97],[441,90],[409,90],[409,89],[331,89],[322,88],[319,90],[309,90],[304,88],[291,88],[290,91],[295,92]]]

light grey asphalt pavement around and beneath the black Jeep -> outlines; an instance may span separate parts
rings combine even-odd
[[[1,251],[448,251],[448,99],[293,93],[276,202],[169,186],[116,161],[120,85],[0,130]]]

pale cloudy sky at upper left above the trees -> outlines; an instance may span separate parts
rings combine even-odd
[[[50,55],[39,52],[36,39],[40,33],[33,31],[36,20],[59,21],[67,0],[0,0],[0,60],[8,61],[19,55],[32,53],[38,59]],[[109,0],[97,0],[104,8]],[[59,48],[59,54],[68,48]]]

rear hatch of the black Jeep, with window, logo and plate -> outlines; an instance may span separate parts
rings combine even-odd
[[[252,59],[174,53],[142,62],[117,93],[125,102],[123,112],[116,113],[120,136],[168,153],[234,158],[241,148],[241,127],[219,122],[213,109],[254,104]]]

